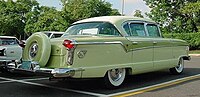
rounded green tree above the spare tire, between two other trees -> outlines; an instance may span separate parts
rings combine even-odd
[[[38,10],[27,13],[25,31],[31,34],[39,31],[65,31],[69,26],[61,11],[42,6]]]

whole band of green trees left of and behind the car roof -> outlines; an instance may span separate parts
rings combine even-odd
[[[120,15],[102,0],[61,0],[63,9],[39,6],[36,0],[0,0],[0,35],[21,39],[38,31],[65,31],[69,24],[84,18]]]

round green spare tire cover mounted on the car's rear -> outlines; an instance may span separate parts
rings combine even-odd
[[[44,67],[49,60],[50,53],[50,39],[44,33],[37,32],[27,39],[22,59],[24,61],[36,61],[41,67]]]

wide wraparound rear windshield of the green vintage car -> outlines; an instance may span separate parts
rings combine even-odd
[[[91,22],[72,25],[62,37],[68,35],[109,35],[121,36],[119,31],[107,22]]]

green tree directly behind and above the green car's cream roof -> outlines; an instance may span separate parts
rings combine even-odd
[[[120,15],[111,4],[103,0],[61,0],[63,11],[70,16],[71,22],[97,16]]]

